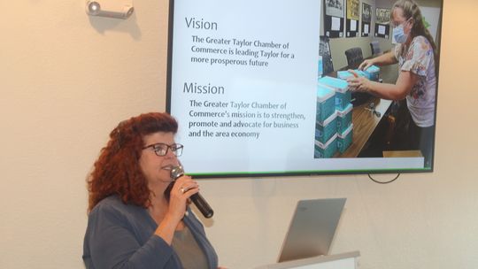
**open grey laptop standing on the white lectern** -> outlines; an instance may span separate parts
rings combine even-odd
[[[346,199],[299,201],[278,262],[328,255]]]

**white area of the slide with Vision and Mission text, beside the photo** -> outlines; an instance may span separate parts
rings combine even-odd
[[[175,1],[168,109],[193,175],[422,168],[318,158],[322,1]]]

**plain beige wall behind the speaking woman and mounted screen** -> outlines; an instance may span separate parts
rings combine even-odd
[[[120,119],[165,109],[166,0],[127,20],[84,2],[0,2],[0,268],[83,268],[98,150]],[[200,181],[221,265],[273,262],[298,199],[345,196],[332,252],[360,250],[360,268],[478,267],[478,2],[444,2],[436,171]]]

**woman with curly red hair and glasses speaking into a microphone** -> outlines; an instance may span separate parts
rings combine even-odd
[[[199,191],[183,175],[171,181],[182,145],[166,113],[122,121],[88,177],[87,268],[217,268],[204,227],[189,210]]]

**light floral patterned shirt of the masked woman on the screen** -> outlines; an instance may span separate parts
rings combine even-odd
[[[433,48],[424,36],[415,36],[410,47],[400,53],[404,44],[397,44],[395,57],[400,71],[409,71],[419,76],[406,104],[412,119],[419,127],[431,127],[435,122],[436,74]]]

